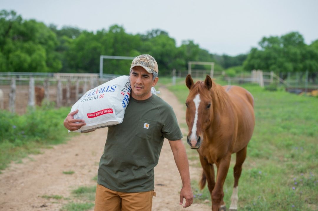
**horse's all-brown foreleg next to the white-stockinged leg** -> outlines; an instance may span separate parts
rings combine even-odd
[[[217,164],[217,179],[215,183],[215,187],[212,191],[212,211],[225,210],[225,203],[223,201],[224,192],[223,192],[223,184],[229,170],[231,161],[231,154],[229,153],[221,161]]]

